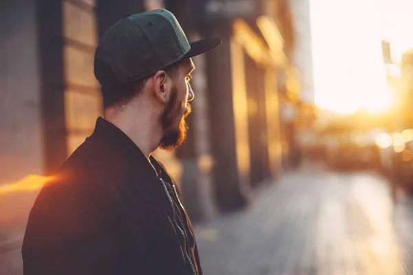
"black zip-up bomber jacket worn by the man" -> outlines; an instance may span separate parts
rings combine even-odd
[[[150,159],[98,118],[36,198],[24,274],[202,274],[179,190]]]

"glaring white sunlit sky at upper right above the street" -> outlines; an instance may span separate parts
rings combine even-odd
[[[412,14],[413,0],[310,0],[316,104],[340,113],[385,109],[381,41],[400,61],[413,47]]]

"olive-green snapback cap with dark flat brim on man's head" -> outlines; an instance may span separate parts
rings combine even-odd
[[[168,10],[158,9],[116,22],[100,39],[94,58],[109,64],[118,83],[125,84],[220,44],[221,39],[189,43],[176,17]]]

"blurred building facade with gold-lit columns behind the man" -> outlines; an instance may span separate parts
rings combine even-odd
[[[18,0],[0,3],[0,274],[21,274],[20,245],[39,192],[6,186],[51,175],[103,114],[93,74],[98,39],[124,14],[165,7],[189,40],[222,38],[197,56],[187,142],[156,151],[195,221],[246,206],[280,173],[279,75],[293,47],[286,1]],[[285,90],[285,89],[284,89]]]

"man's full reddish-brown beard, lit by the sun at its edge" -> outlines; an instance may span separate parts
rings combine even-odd
[[[173,123],[176,123],[177,118],[181,115],[182,109],[184,108],[182,102],[178,102],[176,99],[177,96],[178,91],[176,87],[173,87],[171,98],[160,115],[160,123],[164,135],[162,136],[162,140],[160,140],[159,147],[167,151],[178,148],[187,139],[188,125],[185,118],[191,113],[191,105],[188,103],[188,111],[182,116],[178,129],[173,129]]]

